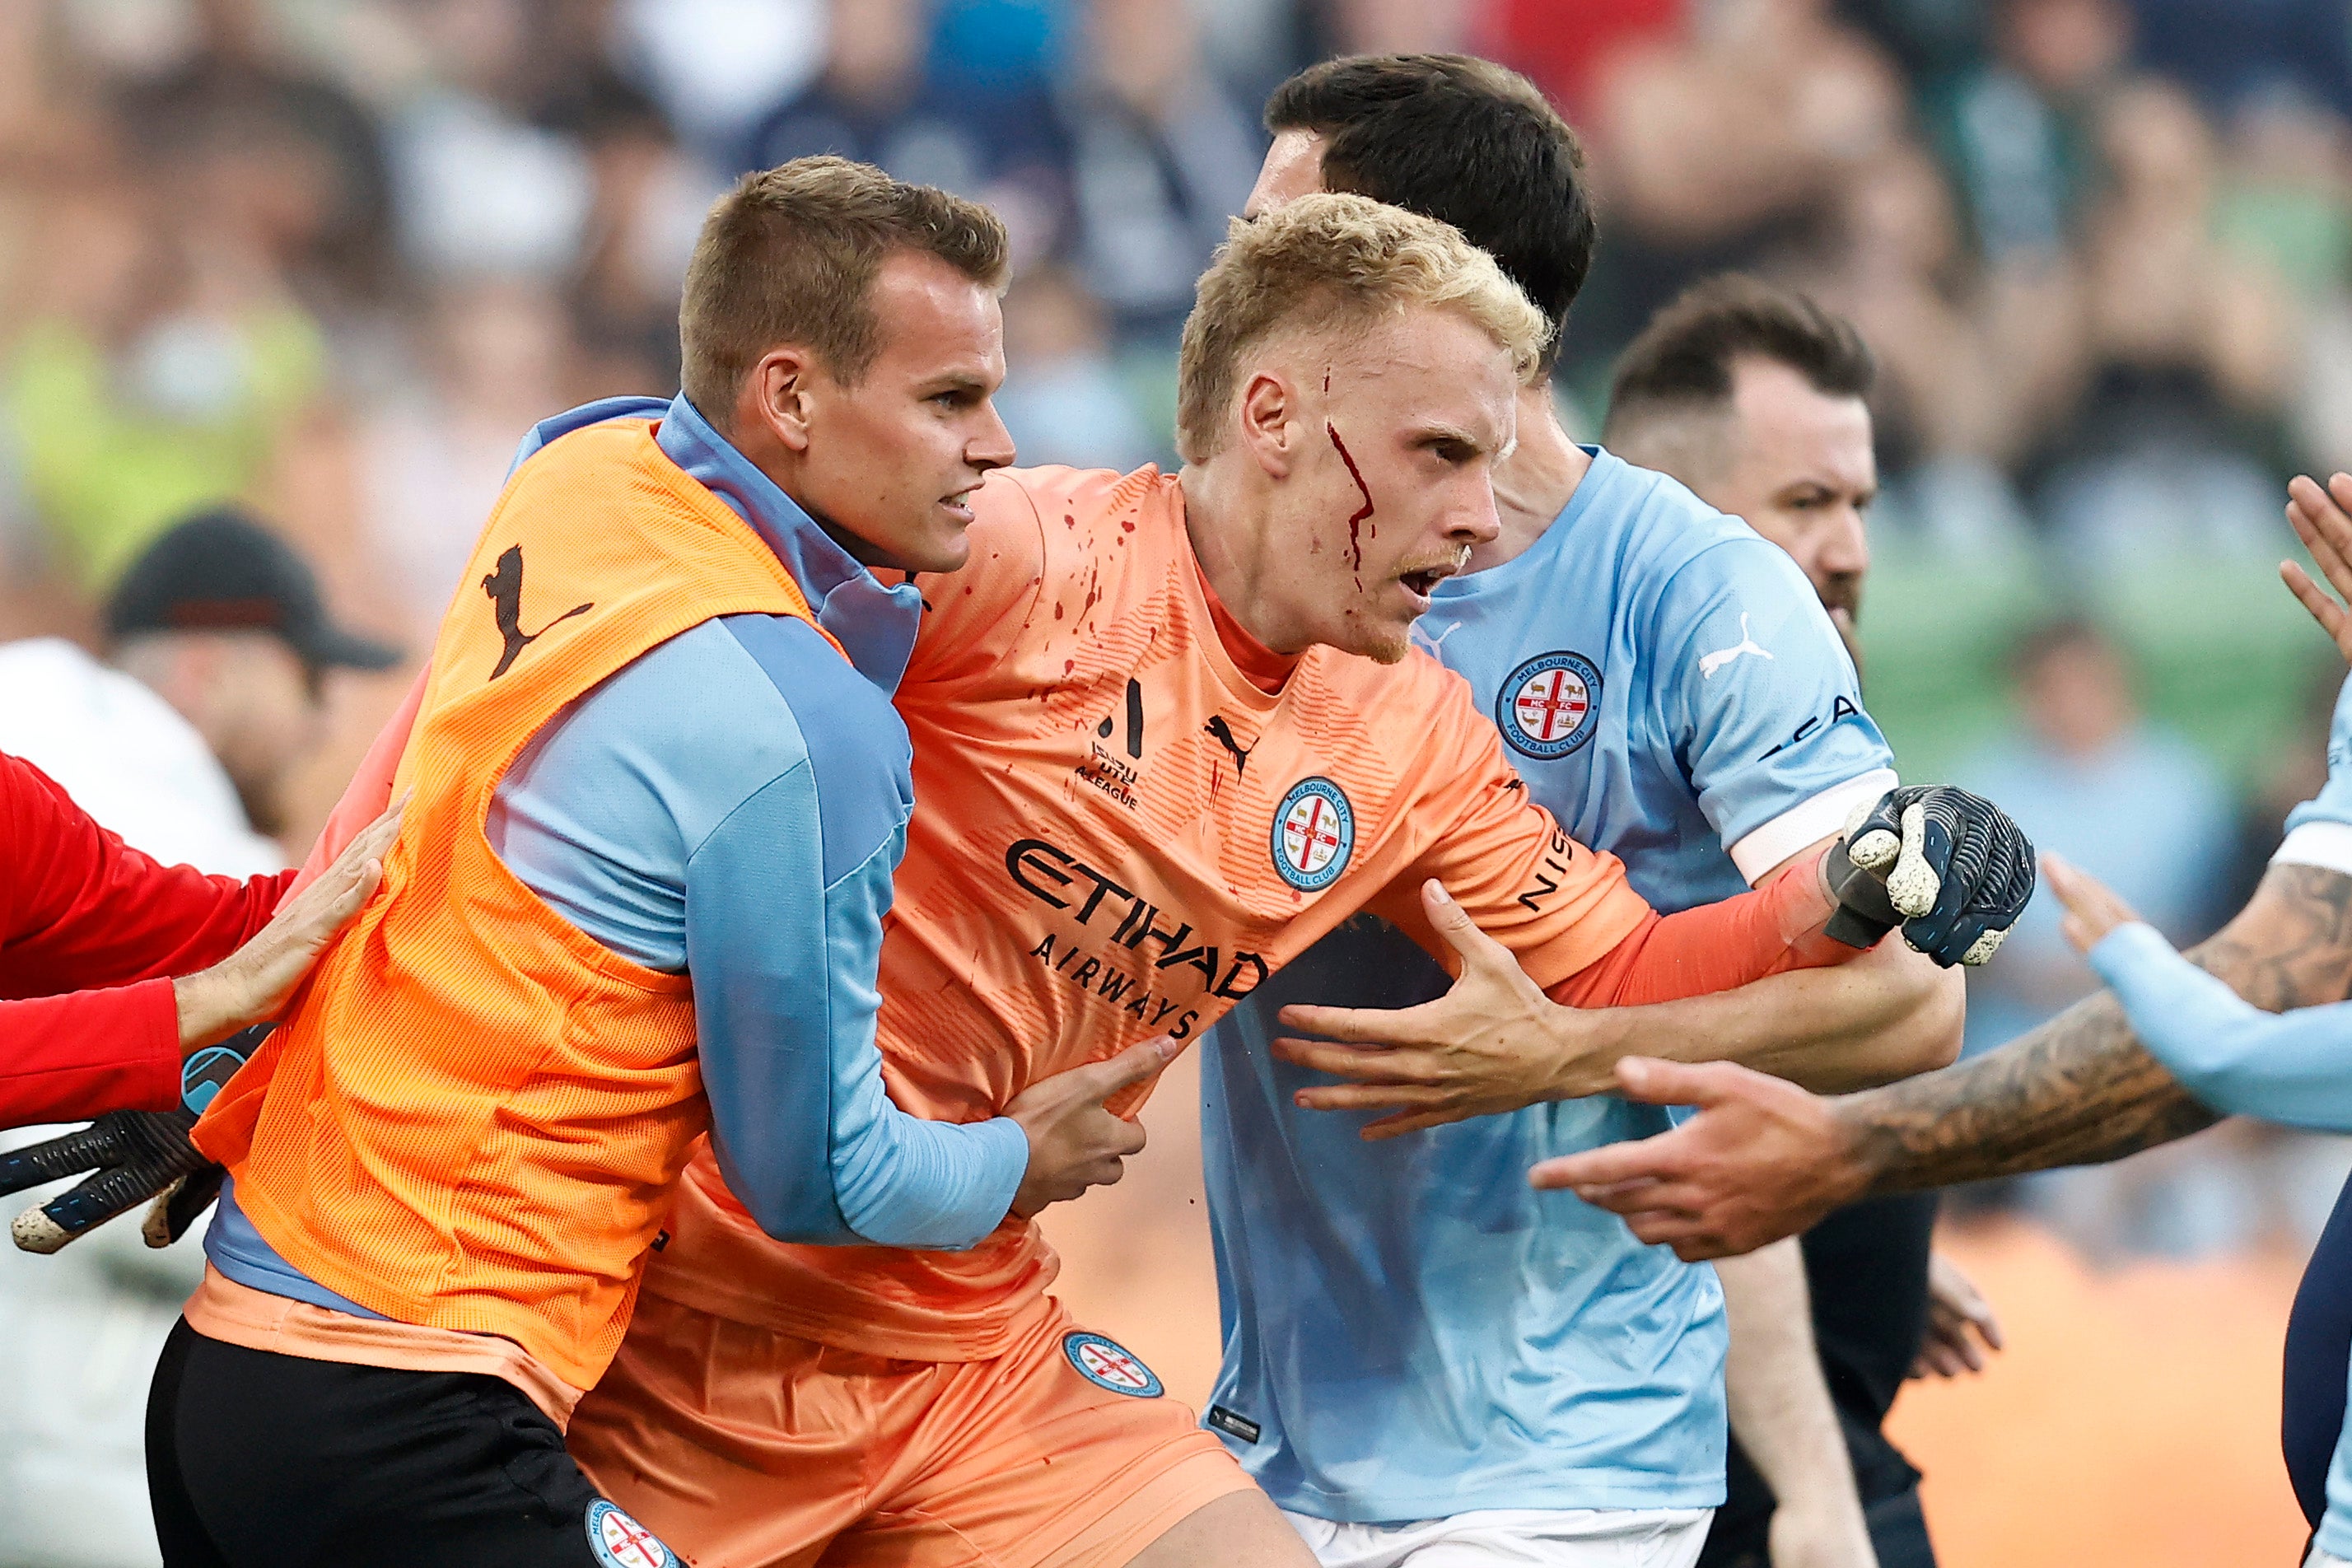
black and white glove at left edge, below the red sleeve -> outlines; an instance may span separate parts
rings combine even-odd
[[[153,1199],[141,1234],[172,1246],[221,1194],[221,1166],[188,1140],[212,1095],[245,1065],[275,1025],[254,1025],[205,1046],[179,1070],[179,1110],[118,1110],[89,1126],[0,1154],[0,1194],[89,1173],[9,1225],[19,1251],[54,1253],[120,1213]]]

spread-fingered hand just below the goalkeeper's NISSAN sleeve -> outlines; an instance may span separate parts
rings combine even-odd
[[[1364,1138],[1397,1138],[1611,1086],[1606,1056],[1562,1039],[1597,1027],[1545,997],[1510,947],[1479,931],[1444,886],[1425,882],[1421,907],[1461,957],[1461,978],[1444,997],[1395,1011],[1282,1009],[1287,1027],[1327,1039],[1284,1037],[1275,1056],[1352,1079],[1301,1088],[1294,1095],[1301,1107],[1385,1110],[1392,1114],[1367,1124]]]

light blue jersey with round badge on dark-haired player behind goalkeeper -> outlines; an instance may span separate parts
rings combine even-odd
[[[1606,451],[1531,550],[1442,583],[1416,642],[1470,682],[1536,799],[1665,910],[1738,893],[1740,865],[1769,870],[1893,785],[1795,562]],[[1646,1138],[1665,1112],[1566,1100],[1362,1143],[1367,1117],[1291,1105],[1319,1074],[1268,1053],[1279,1006],[1444,985],[1359,917],[1216,1027],[1202,1135],[1225,1363],[1207,1425],[1317,1519],[1722,1502],[1715,1269],[1526,1185],[1538,1159]]]

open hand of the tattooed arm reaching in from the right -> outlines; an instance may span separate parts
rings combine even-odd
[[[1628,1056],[1618,1093],[1696,1105],[1670,1133],[1545,1159],[1531,1187],[1566,1187],[1625,1218],[1635,1237],[1677,1258],[1731,1258],[1811,1229],[1860,1197],[1870,1173],[1830,1100],[1733,1063]]]

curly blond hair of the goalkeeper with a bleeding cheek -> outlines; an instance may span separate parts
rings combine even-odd
[[[1409,306],[1461,313],[1510,350],[1519,378],[1550,341],[1543,310],[1451,223],[1336,193],[1235,219],[1183,324],[1176,447],[1188,463],[1216,456],[1242,355],[1277,329],[1371,324]]]

